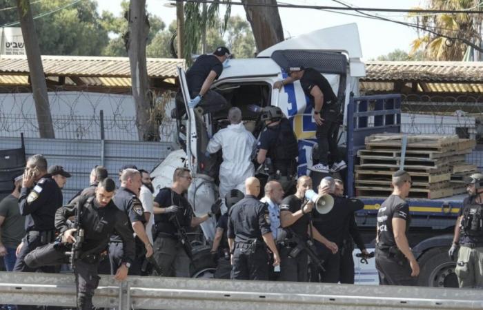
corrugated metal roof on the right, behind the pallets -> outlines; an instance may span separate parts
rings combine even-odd
[[[477,61],[366,61],[362,81],[483,82]]]

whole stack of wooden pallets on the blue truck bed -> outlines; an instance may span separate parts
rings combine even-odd
[[[385,197],[392,192],[391,176],[400,169],[402,162],[402,138],[402,134],[366,137],[366,149],[357,152],[357,196]],[[456,135],[407,135],[404,170],[413,180],[410,198],[433,199],[459,194],[462,175],[475,169],[465,163],[465,155],[473,147],[473,139],[461,139]],[[452,176],[455,180],[461,176],[461,180],[453,183]]]

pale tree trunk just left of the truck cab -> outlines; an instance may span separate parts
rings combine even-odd
[[[159,138],[159,128],[151,120],[151,103],[146,66],[146,40],[149,21],[146,15],[146,0],[131,0],[129,3],[128,55],[131,69],[131,90],[136,106],[136,125],[140,141]]]

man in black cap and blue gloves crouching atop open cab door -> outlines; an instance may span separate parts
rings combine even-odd
[[[218,79],[223,68],[228,68],[230,51],[220,46],[213,54],[204,54],[197,57],[195,63],[186,72],[186,83],[192,100],[188,105],[200,105],[203,113],[223,110],[228,103],[221,94],[210,90],[211,84]]]

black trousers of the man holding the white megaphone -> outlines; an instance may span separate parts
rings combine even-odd
[[[307,282],[308,280],[308,255],[301,251],[296,258],[290,258],[288,254],[293,248],[280,246],[280,281]]]

